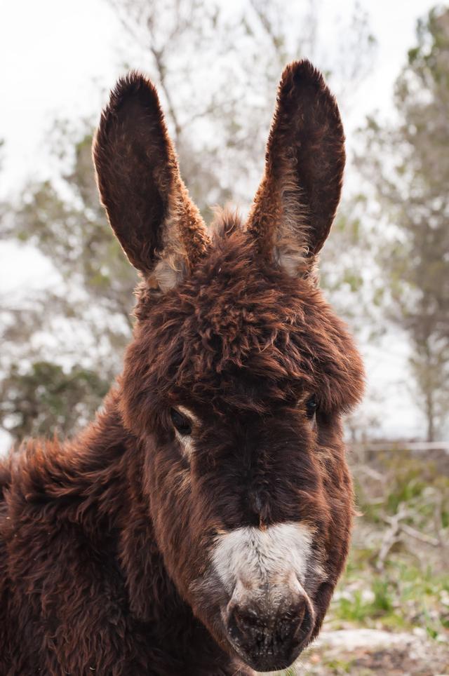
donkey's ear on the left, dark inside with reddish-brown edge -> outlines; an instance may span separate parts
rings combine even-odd
[[[165,291],[208,245],[181,180],[156,89],[138,73],[119,80],[93,142],[98,189],[130,262]]]

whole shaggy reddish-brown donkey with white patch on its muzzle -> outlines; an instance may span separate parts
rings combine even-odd
[[[319,633],[353,514],[342,415],[363,367],[316,274],[337,104],[308,61],[286,67],[249,217],[210,231],[144,76],[117,83],[93,157],[141,276],[133,342],[91,426],[0,467],[0,674],[286,668]]]

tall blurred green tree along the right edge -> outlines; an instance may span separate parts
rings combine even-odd
[[[380,222],[388,217],[377,252],[384,303],[408,336],[417,403],[434,440],[449,414],[448,9],[418,23],[394,102],[394,123],[368,120],[359,165],[375,189]]]

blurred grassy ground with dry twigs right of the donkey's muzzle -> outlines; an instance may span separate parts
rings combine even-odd
[[[362,515],[331,604],[330,626],[424,628],[431,638],[449,640],[448,464],[445,455],[429,461],[386,450],[370,462],[370,472],[354,466]]]

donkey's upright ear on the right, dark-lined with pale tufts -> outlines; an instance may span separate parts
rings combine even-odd
[[[265,173],[248,217],[260,250],[291,275],[309,273],[329,234],[344,170],[340,113],[309,61],[283,72]]]

